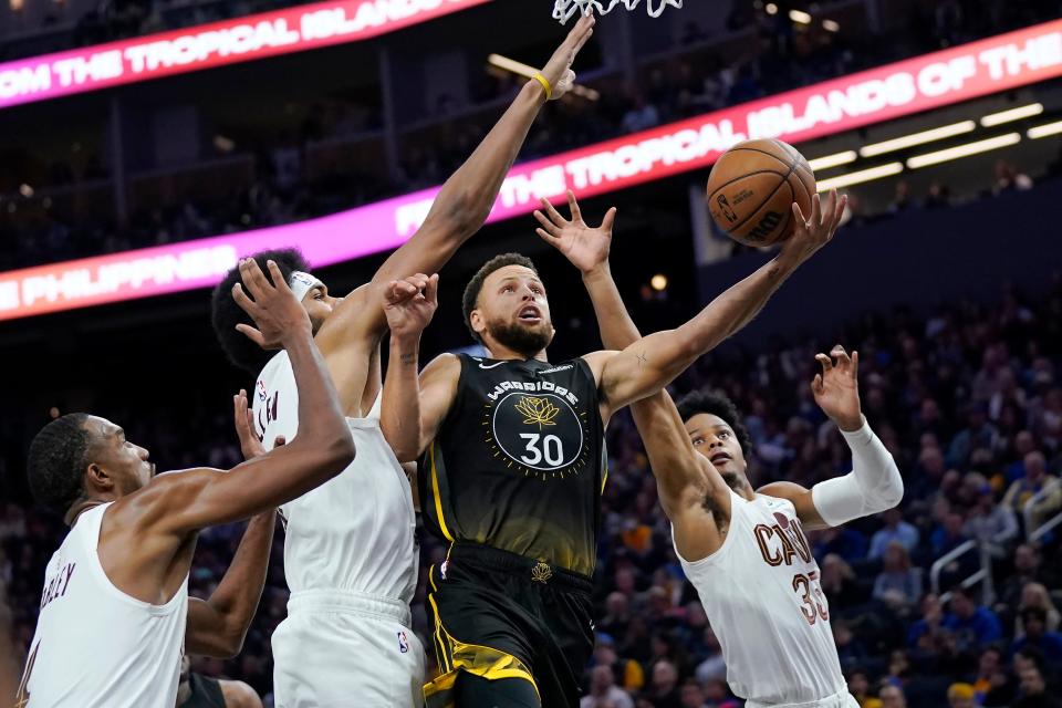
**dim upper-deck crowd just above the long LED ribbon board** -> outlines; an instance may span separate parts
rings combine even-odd
[[[746,52],[717,53],[711,39],[690,23],[678,38],[684,49],[664,63],[642,67],[636,91],[603,91],[597,102],[573,98],[543,111],[522,158],[643,131],[1059,12],[1056,0],[981,6],[959,0],[919,6],[909,27],[862,41],[855,51],[843,33],[801,29],[784,11],[770,15],[762,7],[736,2],[728,28],[757,29],[758,41],[749,42]],[[9,192],[0,198],[0,270],[289,223],[441,184],[486,135],[499,102],[514,95],[520,84],[502,75],[469,81],[473,101],[492,107],[469,114],[469,106],[455,106],[448,96],[440,96],[433,115],[446,116],[460,108],[462,117],[425,134],[403,135],[394,169],[386,160],[361,170],[341,169],[327,156],[335,140],[378,129],[378,107],[313,102],[296,111],[295,123],[275,139],[239,148],[252,156],[250,176],[221,180],[230,186],[217,188],[209,197],[134,201],[124,222],[108,208],[114,202],[113,186],[98,155],[80,160],[76,169],[66,163],[53,164],[46,179],[29,191],[17,169],[0,167],[0,189]],[[309,152],[314,153],[312,160]],[[1062,171],[1062,162],[1058,167]],[[49,187],[94,181],[103,186],[90,199],[93,209],[81,209],[76,218],[59,207],[60,197],[49,196]],[[948,195],[931,194],[927,204],[930,200],[946,204]]]

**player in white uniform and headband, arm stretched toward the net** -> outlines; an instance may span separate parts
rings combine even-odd
[[[280,262],[309,312],[358,448],[357,459],[343,475],[280,510],[291,598],[289,617],[272,637],[279,708],[399,708],[421,702],[424,650],[409,612],[417,582],[416,516],[409,480],[379,427],[379,343],[387,331],[381,302],[393,280],[437,272],[479,230],[539,111],[573,85],[572,62],[593,27],[592,17],[580,20],[447,180],[420,229],[372,282],[335,298],[306,272],[298,252],[256,257]],[[238,278],[230,273],[216,291],[215,331],[230,361],[257,374],[259,434],[267,441],[278,435],[298,439],[296,430],[306,421],[296,410],[284,353],[263,357],[233,333],[244,320],[226,293]]]

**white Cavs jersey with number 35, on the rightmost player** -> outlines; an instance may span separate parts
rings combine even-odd
[[[719,638],[727,683],[763,704],[837,694],[845,683],[830,607],[795,508],[762,494],[747,501],[731,491],[730,499],[722,546],[695,563],[679,554]]]

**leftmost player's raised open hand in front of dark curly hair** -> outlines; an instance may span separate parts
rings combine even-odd
[[[232,285],[232,299],[258,326],[241,323],[236,329],[263,350],[277,350],[287,337],[298,336],[301,332],[309,334],[313,329],[310,315],[291,292],[277,263],[268,261],[266,267],[272,282],[253,258],[240,261],[240,280],[243,282]]]

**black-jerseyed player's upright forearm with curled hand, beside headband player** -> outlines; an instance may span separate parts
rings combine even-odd
[[[420,333],[438,308],[439,277],[416,274],[388,284],[383,311],[391,327],[391,358],[384,378],[379,428],[399,462],[420,452]]]

